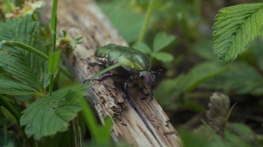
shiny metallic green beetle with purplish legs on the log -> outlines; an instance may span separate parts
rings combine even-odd
[[[158,71],[151,72],[150,60],[141,51],[131,47],[108,44],[106,46],[99,47],[95,52],[95,56],[98,57],[98,60],[101,62],[90,62],[86,59],[81,60],[88,62],[91,66],[99,65],[107,67],[117,63],[122,63],[123,65],[120,66],[120,68],[117,68],[117,70],[115,69],[115,73],[107,73],[101,78],[96,78],[94,80],[102,81],[108,77],[116,77],[114,78],[115,80],[123,81],[126,98],[132,107],[134,106],[130,101],[128,87],[142,81],[152,83],[151,100],[153,99],[155,73],[160,74],[162,70],[159,69]],[[90,78],[85,80],[84,83],[88,80],[90,80]]]

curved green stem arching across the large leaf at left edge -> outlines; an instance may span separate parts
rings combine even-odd
[[[19,48],[24,49],[24,50],[26,50],[26,51],[29,51],[29,52],[31,52],[31,53],[34,53],[34,54],[38,55],[38,56],[41,57],[41,58],[44,58],[44,59],[46,59],[46,60],[49,60],[49,56],[47,56],[45,53],[43,53],[43,52],[41,52],[41,51],[39,51],[39,50],[37,50],[37,49],[29,46],[29,45],[26,45],[26,44],[24,44],[24,43],[22,43],[22,42],[11,41],[11,40],[2,40],[2,41],[0,42],[0,50],[3,48],[3,46],[9,46],[9,47],[16,46],[16,47],[19,47]],[[60,65],[58,65],[58,67],[59,67],[60,71],[61,71],[65,76],[67,76],[69,79],[73,80],[71,74],[70,74],[68,71],[66,71],[65,69],[63,69]]]

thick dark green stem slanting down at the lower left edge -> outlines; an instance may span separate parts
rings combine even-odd
[[[11,103],[9,103],[6,97],[4,97],[2,94],[0,94],[0,104],[3,105],[11,114],[13,114],[13,116],[15,116],[15,119],[19,123],[21,117],[20,113],[15,110],[13,105],[11,105]]]

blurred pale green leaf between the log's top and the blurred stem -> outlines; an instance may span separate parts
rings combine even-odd
[[[143,13],[131,10],[127,1],[98,2],[98,6],[128,43],[136,41],[143,25]]]

